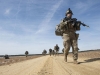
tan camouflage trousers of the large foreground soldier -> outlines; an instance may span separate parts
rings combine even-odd
[[[67,59],[70,47],[72,47],[73,59],[74,60],[78,59],[78,46],[75,33],[71,32],[68,34],[63,34],[63,46],[64,46],[64,59]]]

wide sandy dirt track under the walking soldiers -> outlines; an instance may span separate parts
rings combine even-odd
[[[79,58],[81,64],[68,62],[63,56],[43,56],[10,65],[0,66],[0,75],[100,75],[99,58]]]

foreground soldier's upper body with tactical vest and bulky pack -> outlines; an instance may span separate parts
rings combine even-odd
[[[56,25],[55,34],[57,36],[62,36],[63,33],[75,32],[75,31],[80,30],[80,23],[77,21],[77,19],[72,18],[71,20],[72,20],[71,22],[68,22],[70,21],[70,19],[65,17],[59,25]]]

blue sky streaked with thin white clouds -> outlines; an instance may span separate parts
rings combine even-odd
[[[100,0],[0,0],[0,55],[42,53],[44,49],[63,48],[55,26],[71,8],[81,26],[81,50],[100,49]]]

